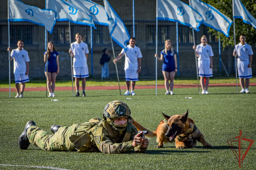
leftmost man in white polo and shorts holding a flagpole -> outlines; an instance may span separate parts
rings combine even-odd
[[[23,49],[24,47],[24,42],[22,39],[18,40],[17,43],[18,48],[12,50],[11,52],[11,58],[13,61],[13,73],[14,73],[14,78],[15,78],[15,89],[17,91],[17,94],[15,98],[23,98],[23,92],[25,89],[25,84],[26,82],[29,81],[28,78],[28,69],[29,69],[29,56],[28,52]],[[9,47],[7,51],[9,52],[11,48]],[[21,92],[19,92],[19,84],[21,84]]]

